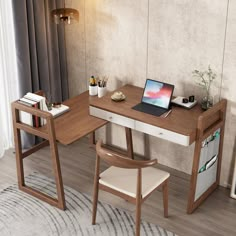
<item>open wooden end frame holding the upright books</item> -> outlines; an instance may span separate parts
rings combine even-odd
[[[45,127],[35,128],[30,125],[22,123],[20,121],[20,111],[24,111],[31,115],[44,118],[46,120]],[[56,144],[53,116],[49,112],[42,111],[34,107],[28,107],[16,101],[12,103],[12,117],[13,117],[13,130],[14,130],[15,149],[16,149],[16,167],[17,167],[19,189],[53,206],[56,206],[60,209],[65,209],[64,188],[61,176],[61,167],[60,167],[58,149]],[[21,130],[33,134],[35,136],[41,137],[43,138],[43,141],[37,145],[34,145],[27,151],[23,152],[21,144],[21,134],[20,134]],[[23,159],[47,145],[50,145],[52,166],[57,188],[57,197],[58,197],[57,199],[52,198],[42,192],[39,192],[31,188],[27,186],[25,183]]]

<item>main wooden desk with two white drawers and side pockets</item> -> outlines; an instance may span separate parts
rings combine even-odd
[[[189,146],[195,142],[187,206],[187,212],[192,213],[219,184],[226,100],[222,100],[206,112],[203,112],[199,105],[196,105],[191,110],[173,107],[170,115],[163,118],[132,109],[133,106],[141,101],[142,88],[126,85],[120,88],[119,91],[126,95],[125,101],[114,102],[110,98],[112,93],[108,93],[102,98],[90,101],[90,114],[126,128],[128,153],[131,158],[133,157],[131,129],[184,146]],[[210,181],[209,186],[202,187],[202,177],[199,177],[200,173],[198,173],[200,169],[199,163],[202,164],[205,158],[201,154],[203,152],[202,143],[217,130],[220,130],[220,142],[219,149],[217,149],[218,160],[214,165],[216,174],[213,177],[215,179],[213,178]]]

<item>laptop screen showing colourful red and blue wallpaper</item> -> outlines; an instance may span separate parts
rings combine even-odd
[[[142,102],[167,109],[169,107],[173,88],[173,85],[147,80]]]

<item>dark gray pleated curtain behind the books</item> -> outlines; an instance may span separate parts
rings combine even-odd
[[[50,11],[62,0],[12,0],[20,91],[43,90],[53,102],[68,98],[64,25]]]

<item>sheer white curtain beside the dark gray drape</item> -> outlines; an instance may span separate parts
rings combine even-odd
[[[19,97],[11,1],[0,1],[0,158],[13,147],[11,102]]]

